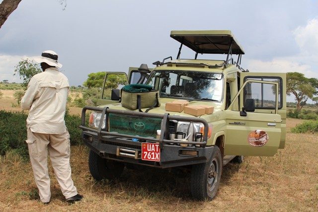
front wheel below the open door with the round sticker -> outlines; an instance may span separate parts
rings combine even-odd
[[[212,200],[220,186],[223,160],[218,146],[213,148],[212,156],[206,163],[192,165],[191,194],[198,200]]]

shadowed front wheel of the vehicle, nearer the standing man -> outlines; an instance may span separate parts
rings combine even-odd
[[[101,158],[92,150],[89,150],[88,166],[89,172],[95,180],[118,178],[125,167],[123,163]]]

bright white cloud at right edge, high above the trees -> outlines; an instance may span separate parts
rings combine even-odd
[[[294,31],[295,40],[302,54],[318,55],[318,19],[307,22],[306,26],[299,26]]]

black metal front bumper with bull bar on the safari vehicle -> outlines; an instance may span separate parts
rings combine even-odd
[[[128,114],[139,117],[156,117],[162,118],[161,134],[159,139],[152,137],[138,137],[139,141],[132,141],[134,136],[123,135],[116,132],[107,132],[101,129],[101,124],[97,130],[85,127],[86,110],[94,110],[102,112],[102,116],[106,115],[106,129],[108,113]],[[159,168],[177,167],[184,165],[192,165],[207,162],[212,155],[214,146],[206,146],[208,124],[204,119],[196,117],[170,116],[169,114],[149,114],[134,111],[113,110],[107,107],[89,107],[83,108],[82,123],[82,140],[91,150],[100,157],[122,161],[126,163],[135,163],[145,166],[153,166]],[[102,119],[101,119],[102,120]],[[204,136],[202,142],[182,142],[167,140],[168,122],[169,120],[201,122],[204,124]],[[160,161],[147,161],[141,159],[142,142],[158,142],[160,146]],[[174,143],[174,144],[173,144]],[[197,146],[182,147],[177,143],[187,143]]]

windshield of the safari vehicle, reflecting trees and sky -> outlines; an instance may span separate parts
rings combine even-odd
[[[147,84],[160,97],[222,101],[223,75],[199,71],[152,71]]]

